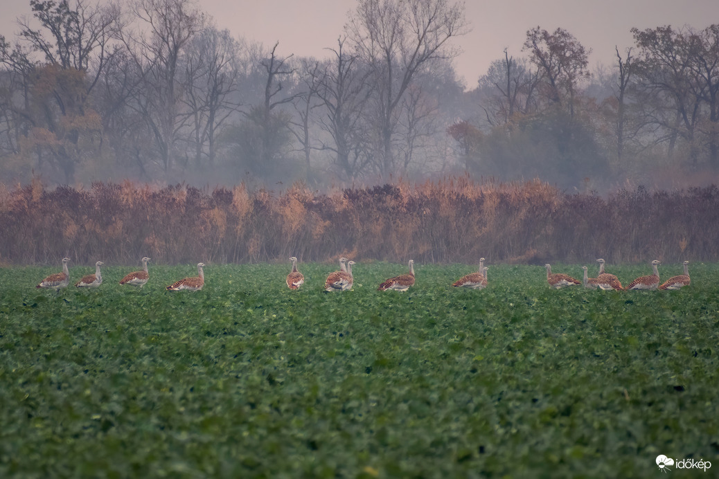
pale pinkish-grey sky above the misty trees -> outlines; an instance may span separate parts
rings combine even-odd
[[[199,0],[198,4],[220,29],[237,37],[267,47],[279,41],[278,53],[283,56],[321,58],[326,57],[324,48],[336,45],[356,0]],[[503,57],[505,48],[510,55],[523,56],[526,32],[536,26],[550,32],[562,27],[573,34],[592,49],[593,69],[599,62],[613,64],[615,45],[620,52],[633,45],[631,27],[670,24],[703,29],[719,23],[719,0],[468,0],[465,6],[472,32],[455,40],[463,52],[454,68],[467,88],[474,88],[490,62]],[[14,37],[14,19],[22,14],[30,14],[29,0],[2,0],[0,34]]]

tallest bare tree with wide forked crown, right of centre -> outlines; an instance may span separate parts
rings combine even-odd
[[[449,40],[467,32],[464,4],[447,0],[359,0],[347,32],[372,68],[380,174],[395,171],[393,134],[403,96],[417,73],[434,60],[457,55]]]

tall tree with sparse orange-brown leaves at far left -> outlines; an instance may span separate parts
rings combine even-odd
[[[101,118],[89,96],[106,60],[111,11],[82,0],[31,0],[30,6],[40,29],[19,22],[27,46],[0,41],[0,61],[24,87],[22,100],[6,103],[18,120],[16,164],[47,164],[70,183],[77,165],[96,153]]]

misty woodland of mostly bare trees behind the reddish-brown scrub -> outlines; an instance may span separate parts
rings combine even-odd
[[[358,0],[321,59],[234,37],[190,0],[30,0],[18,22],[0,36],[5,185],[464,175],[606,192],[719,173],[719,24],[633,29],[595,70],[571,32],[529,25],[463,85],[469,26],[449,0]]]

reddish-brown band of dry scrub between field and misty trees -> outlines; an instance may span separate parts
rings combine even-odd
[[[719,189],[568,195],[467,177],[319,193],[40,182],[0,195],[4,264],[719,260]]]

